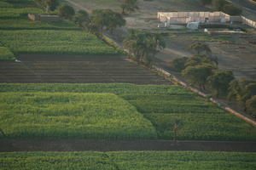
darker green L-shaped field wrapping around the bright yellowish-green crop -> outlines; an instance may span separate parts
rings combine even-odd
[[[159,139],[256,140],[256,128],[189,90],[172,85],[2,83],[0,92],[116,94],[153,123]]]

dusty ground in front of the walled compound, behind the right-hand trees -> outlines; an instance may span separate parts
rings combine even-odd
[[[214,35],[210,37],[201,37],[198,33],[174,34],[174,36],[166,38],[167,48],[157,54],[157,58],[170,62],[177,57],[189,57],[193,54],[188,49],[189,44],[201,38],[203,38],[202,42],[209,44],[212,55],[218,57],[219,69],[233,71],[238,78],[256,79],[256,44],[252,43],[256,42],[256,34]],[[207,41],[207,39],[212,39],[212,41]]]

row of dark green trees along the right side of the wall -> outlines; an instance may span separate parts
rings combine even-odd
[[[244,110],[256,116],[256,81],[235,79],[232,71],[218,70],[218,59],[205,43],[194,42],[189,46],[196,54],[190,58],[173,59],[171,67],[187,77],[192,85],[208,88],[216,97],[236,100]]]

